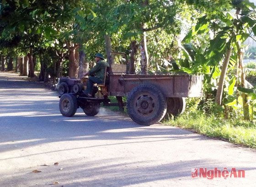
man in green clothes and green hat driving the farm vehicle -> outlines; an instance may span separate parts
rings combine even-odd
[[[105,71],[106,67],[109,67],[108,63],[105,61],[103,55],[101,53],[96,53],[95,61],[96,66],[94,66],[90,71],[85,73],[84,75],[89,75],[89,79],[87,81],[87,87],[85,90],[85,95],[91,97],[92,88],[95,83],[102,84],[105,79]]]

